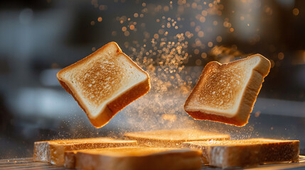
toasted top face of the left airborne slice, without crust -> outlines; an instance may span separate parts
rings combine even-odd
[[[90,118],[96,118],[107,103],[124,91],[148,79],[147,74],[127,55],[117,51],[118,47],[110,44],[94,53],[90,61],[82,62],[63,74],[63,79],[71,83],[68,86],[78,96],[77,100],[85,103]]]

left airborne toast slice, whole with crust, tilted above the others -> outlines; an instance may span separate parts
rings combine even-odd
[[[109,42],[92,55],[60,70],[58,81],[96,128],[150,89],[149,74]]]

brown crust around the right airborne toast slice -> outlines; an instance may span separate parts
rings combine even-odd
[[[250,60],[251,57],[258,56],[260,58],[259,63],[256,67],[252,69],[252,73],[250,75],[249,81],[247,81],[245,85],[245,89],[242,91],[242,96],[240,99],[240,104],[232,116],[229,115],[223,115],[216,111],[206,111],[206,110],[197,110],[196,109],[189,109],[191,107],[191,101],[193,98],[196,98],[195,91],[200,91],[200,84],[205,83],[205,76],[210,74],[212,72],[211,70],[220,70],[223,68],[228,68],[233,65],[238,64],[239,62],[243,62],[245,60]],[[267,60],[262,55],[252,55],[250,57],[247,57],[242,60],[236,60],[234,62],[229,62],[227,64],[220,64],[218,62],[209,62],[205,68],[203,69],[203,72],[200,76],[200,79],[196,86],[194,87],[191,94],[186,99],[186,103],[184,105],[184,110],[191,115],[192,118],[197,120],[213,120],[221,123],[227,123],[230,125],[236,125],[236,126],[243,126],[247,124],[247,121],[250,117],[250,113],[252,112],[252,108],[255,104],[257,95],[259,94],[260,89],[262,88],[262,82],[264,81],[264,77],[267,76],[269,73],[269,69],[271,67],[271,64],[269,60]]]

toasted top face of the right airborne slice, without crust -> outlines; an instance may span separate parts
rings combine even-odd
[[[214,62],[203,75],[203,82],[192,92],[194,95],[185,106],[186,111],[217,113],[228,118],[236,115],[242,96],[255,67],[262,60],[260,55],[229,64]],[[261,74],[256,76],[262,77]],[[262,79],[262,78],[261,78]]]

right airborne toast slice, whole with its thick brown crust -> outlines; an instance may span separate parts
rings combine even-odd
[[[209,62],[188,96],[184,110],[194,119],[243,126],[269,69],[270,62],[262,55],[228,64]]]

